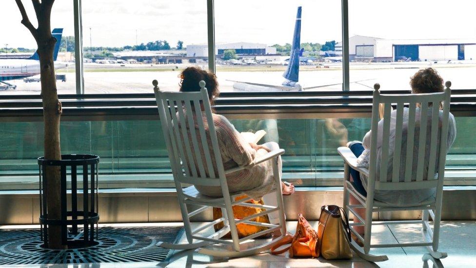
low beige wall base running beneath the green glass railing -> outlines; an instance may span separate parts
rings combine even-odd
[[[342,206],[342,189],[331,188],[296,191],[291,196],[285,196],[284,207],[287,220],[295,221],[298,212],[303,212],[307,220],[317,220],[321,206],[331,204]],[[442,220],[476,219],[475,190],[460,188],[443,191]],[[70,194],[67,196],[69,199]],[[78,198],[78,209],[81,209],[82,194],[78,194]],[[464,202],[462,202],[463,200]],[[68,204],[70,203],[68,201]],[[38,194],[0,194],[0,225],[39,224],[39,205]],[[167,192],[99,193],[98,205],[99,223],[181,221],[177,193],[172,190]],[[455,209],[456,207],[457,209]],[[209,209],[192,220],[211,221],[212,217],[212,211]],[[375,220],[406,220],[418,217],[421,217],[421,210],[375,212],[373,215]]]

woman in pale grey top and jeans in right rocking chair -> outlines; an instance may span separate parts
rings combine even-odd
[[[421,93],[435,93],[435,92],[443,92],[443,79],[438,75],[435,69],[433,68],[426,68],[421,69],[415,73],[414,76],[410,79],[410,85],[412,87],[413,94],[421,94]],[[418,103],[419,104],[419,103]],[[428,107],[431,109],[432,107]],[[440,104],[440,109],[442,108]],[[402,124],[402,152],[401,155],[404,157],[406,156],[406,133],[408,131],[408,108],[403,108],[403,124]],[[417,105],[415,110],[415,135],[419,135],[419,122],[420,122],[420,114],[421,109],[419,105]],[[431,135],[431,112],[428,116],[428,131],[427,131],[427,146],[430,143],[430,135]],[[441,130],[441,122],[443,118],[443,111],[439,111],[439,129]],[[389,144],[389,155],[393,155],[393,150],[395,146],[395,132],[396,132],[396,119],[397,119],[397,110],[392,111],[390,115],[390,144]],[[441,132],[439,130],[439,132]],[[383,131],[383,119],[378,122],[378,133],[382,133]],[[357,165],[362,167],[369,167],[369,160],[370,160],[370,137],[371,131],[367,132],[365,137],[363,138],[362,142],[354,141],[349,142],[347,146],[351,149],[351,151],[358,157],[357,158]],[[448,120],[448,139],[445,141],[447,143],[447,150],[450,150],[451,145],[455,141],[456,138],[456,123],[455,117],[450,113],[449,120]],[[440,141],[440,133],[438,133],[438,141]],[[417,162],[417,153],[418,153],[418,141],[415,142],[414,149],[414,157],[413,157],[413,166],[414,169],[416,167]],[[377,155],[381,155],[382,150],[382,136],[378,136],[377,138]],[[439,150],[439,148],[437,149]],[[438,152],[436,152],[438,153]],[[426,158],[428,158],[429,151],[426,152]],[[378,160],[377,160],[378,163]],[[405,163],[404,160],[401,163]],[[392,162],[389,163],[388,172],[391,176],[392,172]],[[401,169],[404,169],[405,166],[400,166]],[[435,170],[437,170],[438,166],[435,166]],[[367,178],[363,174],[359,174],[357,170],[351,169],[351,180],[352,184],[355,189],[362,194],[363,196],[367,195]],[[425,163],[424,174],[428,173],[428,161]],[[426,176],[426,175],[424,175]],[[374,199],[392,206],[415,206],[420,203],[424,202],[431,202],[435,200],[436,195],[436,188],[433,189],[419,189],[419,190],[376,190]],[[351,198],[351,204],[357,204],[357,200],[355,198]],[[361,209],[359,214],[365,218],[365,209]],[[358,231],[359,229],[357,229]],[[363,232],[363,228],[360,229]]]

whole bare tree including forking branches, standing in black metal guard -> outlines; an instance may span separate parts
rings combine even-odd
[[[51,35],[51,9],[55,0],[32,0],[35,14],[37,15],[38,28],[31,24],[28,14],[21,0],[15,0],[21,14],[21,24],[31,32],[37,41],[38,56],[40,58],[41,100],[43,102],[44,122],[44,157],[47,160],[61,160],[59,147],[59,118],[61,116],[61,103],[58,100],[56,88],[55,51],[56,38]],[[46,208],[44,211],[48,219],[60,220],[61,196],[59,167],[47,166],[46,174]],[[48,247],[62,249],[61,227],[48,227]]]

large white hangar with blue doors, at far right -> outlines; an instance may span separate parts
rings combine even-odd
[[[342,56],[342,42],[336,44]],[[355,35],[349,38],[349,57],[356,62],[476,60],[476,39],[386,40]]]

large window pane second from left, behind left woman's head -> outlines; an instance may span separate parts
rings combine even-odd
[[[86,94],[177,91],[183,68],[208,69],[206,0],[83,0],[82,19]]]

